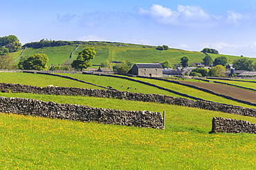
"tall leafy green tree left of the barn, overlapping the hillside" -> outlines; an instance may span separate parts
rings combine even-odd
[[[77,59],[73,61],[71,67],[81,71],[90,67],[90,60],[94,59],[95,54],[94,47],[85,47],[84,50],[78,53]]]

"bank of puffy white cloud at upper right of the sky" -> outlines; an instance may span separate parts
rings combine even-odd
[[[149,10],[138,8],[140,17],[156,21],[166,25],[181,25],[200,28],[202,26],[222,27],[230,25],[254,25],[256,20],[256,12],[235,12],[227,10],[224,14],[210,13],[201,6],[177,6],[176,10],[163,7],[161,5],[152,5]],[[253,23],[253,24],[252,24]]]

